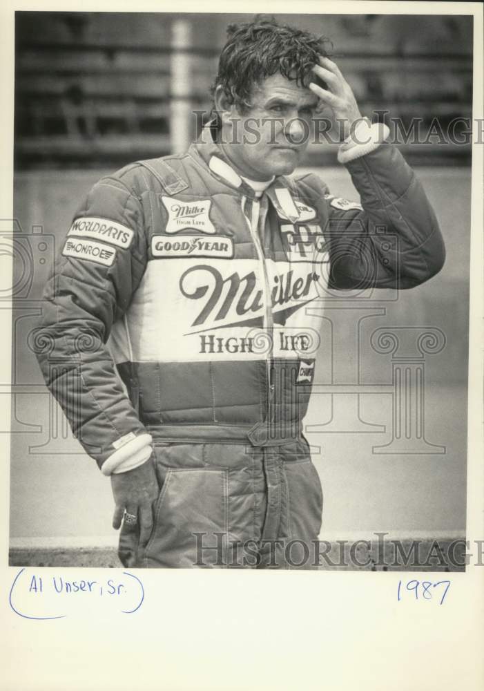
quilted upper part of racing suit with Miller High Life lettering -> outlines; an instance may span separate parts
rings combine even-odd
[[[148,433],[286,437],[307,409],[325,300],[441,269],[434,211],[399,151],[346,166],[361,204],[312,173],[258,199],[205,133],[90,190],[46,286],[37,357],[99,467]]]

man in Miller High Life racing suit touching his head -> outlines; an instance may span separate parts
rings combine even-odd
[[[130,164],[79,207],[39,362],[110,475],[124,565],[310,567],[322,492],[302,419],[320,311],[307,306],[328,286],[423,283],[443,241],[320,39],[230,27],[213,100],[187,153]],[[322,105],[342,124],[338,160],[361,206],[317,176],[284,177]]]

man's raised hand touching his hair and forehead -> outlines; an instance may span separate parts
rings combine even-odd
[[[309,84],[309,88],[319,97],[322,104],[331,108],[336,122],[342,123],[343,137],[346,139],[353,131],[354,122],[362,119],[353,90],[341,74],[338,65],[329,57],[320,57],[320,64],[313,66],[313,72],[326,82],[328,89],[314,82]]]

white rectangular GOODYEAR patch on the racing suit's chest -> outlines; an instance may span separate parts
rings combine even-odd
[[[233,257],[233,240],[223,235],[204,238],[200,235],[153,235],[151,254],[154,257]]]

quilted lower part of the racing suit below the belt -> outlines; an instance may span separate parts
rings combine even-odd
[[[305,439],[280,446],[155,442],[159,484],[146,547],[124,524],[125,567],[313,569],[322,489]]]

